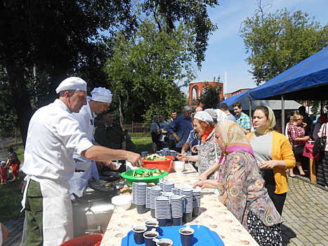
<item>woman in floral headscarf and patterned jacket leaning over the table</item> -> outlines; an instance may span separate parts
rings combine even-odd
[[[218,181],[198,181],[194,187],[218,188],[218,200],[259,245],[282,245],[281,216],[264,188],[244,131],[235,122],[225,120],[216,127],[215,137],[222,150]]]

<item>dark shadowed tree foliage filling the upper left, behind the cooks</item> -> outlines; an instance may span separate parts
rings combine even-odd
[[[135,3],[141,13],[134,12]],[[32,113],[53,101],[55,88],[65,77],[82,77],[88,89],[108,83],[103,67],[112,54],[111,39],[116,32],[133,34],[140,25],[139,15],[159,13],[168,31],[183,21],[191,34],[188,48],[200,67],[209,34],[216,28],[206,7],[217,4],[216,0],[1,1],[1,83],[10,90],[4,104],[15,110],[23,141]]]

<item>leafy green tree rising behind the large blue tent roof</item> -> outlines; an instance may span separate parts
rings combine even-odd
[[[266,11],[259,6],[253,17],[244,20],[241,30],[249,53],[249,72],[257,86],[320,51],[328,41],[328,25],[321,27],[308,13]]]

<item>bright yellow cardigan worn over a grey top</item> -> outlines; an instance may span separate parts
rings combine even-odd
[[[251,141],[254,132],[247,134],[247,138]],[[256,150],[254,150],[256,152]],[[273,160],[283,160],[286,162],[286,167],[284,169],[291,169],[295,167],[296,160],[294,157],[293,150],[291,149],[291,144],[286,136],[280,134],[277,131],[273,131],[273,150],[272,150]],[[280,167],[273,168],[273,174],[275,176],[275,193],[282,194],[288,191],[288,182],[286,171]]]

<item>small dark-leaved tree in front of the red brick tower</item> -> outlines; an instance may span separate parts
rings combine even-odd
[[[220,77],[218,77],[218,81],[220,81]],[[210,85],[206,82],[203,86],[204,92],[199,96],[198,103],[202,103],[204,110],[206,108],[218,108],[218,104],[221,101],[221,90],[220,85]]]

